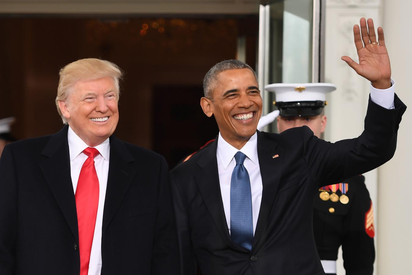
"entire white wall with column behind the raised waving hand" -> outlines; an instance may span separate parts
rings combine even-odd
[[[325,139],[336,141],[357,136],[363,129],[369,83],[339,60],[341,55],[349,55],[357,61],[351,32],[362,16],[373,18],[375,27],[384,28],[396,93],[411,105],[411,11],[410,0],[327,0],[325,81],[336,84],[338,89],[328,98]],[[408,110],[400,125],[395,156],[366,175],[375,208],[378,275],[412,274],[412,183],[408,178],[412,169],[411,128],[412,113]],[[338,274],[344,274],[342,266]]]

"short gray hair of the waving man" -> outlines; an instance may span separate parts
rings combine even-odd
[[[222,62],[217,63],[215,66],[213,66],[205,75],[205,78],[203,79],[203,93],[204,96],[208,99],[212,99],[212,93],[213,89],[215,89],[216,86],[216,81],[218,79],[218,74],[224,71],[229,71],[229,70],[237,70],[237,69],[245,69],[248,68],[250,71],[253,72],[253,75],[255,75],[256,82],[258,82],[258,76],[256,75],[255,71],[246,63],[236,60],[236,59],[231,59],[231,60],[225,60]]]

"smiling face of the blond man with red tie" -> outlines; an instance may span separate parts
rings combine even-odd
[[[115,132],[119,121],[116,96],[111,77],[79,80],[59,107],[77,136],[94,147]]]

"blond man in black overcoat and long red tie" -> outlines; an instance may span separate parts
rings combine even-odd
[[[0,159],[0,274],[178,274],[164,157],[125,143],[115,64],[60,70],[54,135],[5,147]]]

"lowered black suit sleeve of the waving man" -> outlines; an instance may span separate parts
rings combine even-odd
[[[173,198],[173,209],[176,217],[176,228],[178,232],[178,242],[180,251],[181,275],[196,274],[196,259],[194,256],[193,246],[190,239],[190,222],[187,213],[187,206],[183,202],[181,193],[173,174],[170,173],[171,192]]]

